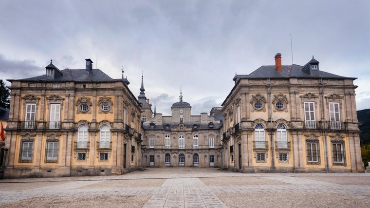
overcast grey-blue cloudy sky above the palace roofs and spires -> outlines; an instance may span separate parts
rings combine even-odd
[[[221,106],[235,74],[261,65],[304,65],[354,81],[357,110],[370,108],[369,0],[1,0],[0,79],[81,69],[91,58],[129,79],[157,113],[170,115],[180,87],[192,114]],[[9,82],[6,82],[10,85]]]

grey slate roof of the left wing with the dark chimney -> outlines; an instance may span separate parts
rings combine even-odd
[[[50,65],[49,65],[50,66]],[[106,75],[100,69],[92,69],[92,73],[87,74],[85,69],[63,69],[59,71],[63,76],[55,77],[54,79],[48,78],[46,75],[35,76],[30,78],[19,79],[21,81],[76,81],[76,82],[109,82],[117,81],[119,79],[113,79]]]

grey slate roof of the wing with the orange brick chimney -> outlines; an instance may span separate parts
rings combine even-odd
[[[316,60],[315,60],[316,61]],[[310,63],[310,62],[309,62]],[[306,66],[306,65],[305,65]],[[353,77],[338,76],[328,72],[317,71],[315,75],[309,75],[302,71],[304,68],[300,65],[283,65],[283,71],[278,72],[275,69],[275,65],[272,66],[261,66],[249,75],[235,75],[233,80],[238,81],[240,78],[335,78],[335,79],[356,79]]]

